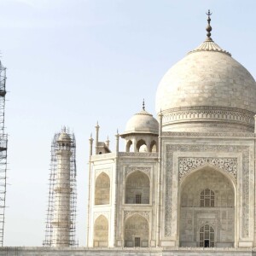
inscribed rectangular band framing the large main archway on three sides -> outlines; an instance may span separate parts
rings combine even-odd
[[[249,177],[250,177],[250,151],[248,146],[238,145],[189,145],[189,144],[167,144],[166,145],[166,198],[165,198],[165,236],[172,236],[172,177],[173,177],[173,153],[175,152],[224,152],[241,153],[242,170],[241,175],[241,236],[249,236]],[[251,175],[253,175],[251,173]]]

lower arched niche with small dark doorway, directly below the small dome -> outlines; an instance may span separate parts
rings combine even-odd
[[[133,214],[125,221],[125,247],[148,247],[148,220]]]

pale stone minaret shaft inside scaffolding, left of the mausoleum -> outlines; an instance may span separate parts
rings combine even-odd
[[[71,139],[64,128],[57,140],[57,173],[55,183],[55,210],[53,218],[53,247],[70,245],[70,151]]]

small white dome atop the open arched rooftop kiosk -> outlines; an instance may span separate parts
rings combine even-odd
[[[142,110],[131,117],[125,127],[125,133],[159,133],[159,124],[151,113]]]

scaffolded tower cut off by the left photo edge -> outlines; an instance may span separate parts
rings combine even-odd
[[[7,170],[7,134],[4,131],[6,68],[0,61],[0,246],[3,247]]]

